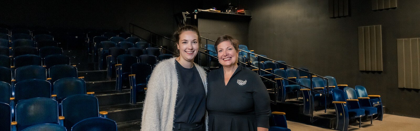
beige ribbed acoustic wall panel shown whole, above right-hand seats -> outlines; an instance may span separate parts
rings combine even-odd
[[[383,71],[382,26],[362,26],[359,32],[359,70]]]

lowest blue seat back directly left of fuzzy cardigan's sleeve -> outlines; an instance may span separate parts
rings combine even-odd
[[[146,63],[131,65],[131,74],[136,74],[136,84],[145,84],[147,76],[152,74],[152,66]]]

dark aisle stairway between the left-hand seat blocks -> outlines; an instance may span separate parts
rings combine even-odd
[[[91,63],[91,55],[85,50],[65,50],[64,55],[77,65],[78,76],[84,76],[87,92],[95,92],[99,110],[108,111],[108,118],[117,122],[118,131],[139,131],[142,103],[131,105],[130,90],[115,91],[115,79],[106,79],[106,70],[95,71],[97,63]]]

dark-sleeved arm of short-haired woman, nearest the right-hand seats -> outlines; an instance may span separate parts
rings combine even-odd
[[[254,92],[252,97],[254,98],[254,110],[257,118],[257,129],[258,131],[265,131],[264,128],[270,128],[269,117],[270,117],[270,96],[268,96],[267,88],[262,83],[260,76],[255,75]]]

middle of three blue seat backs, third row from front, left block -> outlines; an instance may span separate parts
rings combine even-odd
[[[15,84],[15,101],[31,98],[51,98],[51,84],[41,79],[28,79]]]

